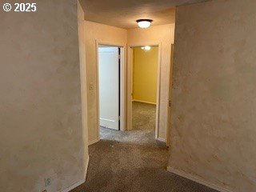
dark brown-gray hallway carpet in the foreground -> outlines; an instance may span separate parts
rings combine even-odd
[[[102,140],[89,147],[86,182],[72,192],[215,191],[167,172],[168,149],[154,141],[154,130],[102,128],[101,135]]]

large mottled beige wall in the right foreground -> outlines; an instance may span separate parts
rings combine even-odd
[[[256,1],[179,6],[169,166],[256,191]]]

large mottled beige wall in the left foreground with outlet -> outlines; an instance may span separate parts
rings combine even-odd
[[[8,1],[14,4],[15,1]],[[0,10],[0,191],[60,191],[84,179],[75,1]],[[65,19],[63,19],[65,18]]]

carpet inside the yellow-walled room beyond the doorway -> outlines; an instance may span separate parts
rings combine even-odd
[[[156,106],[133,102],[133,130],[154,130]]]

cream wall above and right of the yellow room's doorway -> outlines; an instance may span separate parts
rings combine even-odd
[[[147,45],[151,42],[161,43],[161,85],[160,85],[160,115],[158,137],[166,139],[167,107],[169,100],[169,78],[170,78],[170,53],[171,44],[174,43],[174,24],[163,26],[152,26],[148,29],[128,30],[128,45]],[[128,70],[130,66],[128,66]],[[129,79],[128,79],[129,81]]]

